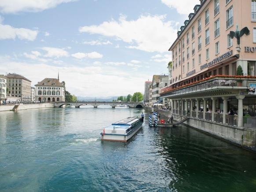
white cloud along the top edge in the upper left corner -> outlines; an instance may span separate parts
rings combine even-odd
[[[68,3],[71,1],[74,0],[0,0],[0,12],[38,12],[56,7],[58,4]]]

